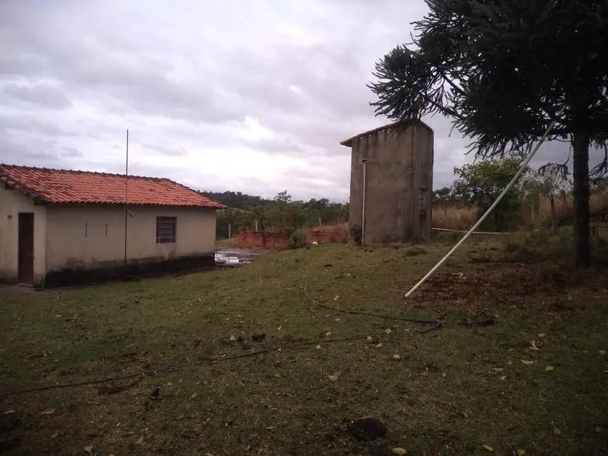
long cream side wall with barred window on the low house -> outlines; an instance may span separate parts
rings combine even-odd
[[[215,209],[130,206],[128,260],[161,260],[215,252]],[[156,243],[156,217],[177,217],[177,242]],[[46,269],[93,269],[121,264],[125,213],[120,206],[47,207]]]

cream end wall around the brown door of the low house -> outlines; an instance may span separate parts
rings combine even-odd
[[[18,279],[20,212],[34,213],[34,281],[39,281],[46,270],[46,208],[4,187],[0,187],[0,279]]]

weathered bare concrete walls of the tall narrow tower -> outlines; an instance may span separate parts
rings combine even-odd
[[[416,124],[353,140],[349,225],[361,227],[366,160],[366,244],[408,243],[431,236],[433,130]]]

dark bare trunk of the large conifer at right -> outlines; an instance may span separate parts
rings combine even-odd
[[[589,135],[577,131],[573,135],[574,149],[574,257],[576,267],[591,264],[589,229]]]

